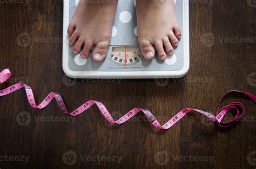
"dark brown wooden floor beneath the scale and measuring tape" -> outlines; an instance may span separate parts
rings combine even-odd
[[[1,89],[22,81],[38,103],[56,91],[70,111],[97,100],[116,118],[147,108],[161,124],[187,107],[215,114],[228,90],[256,94],[253,0],[191,1],[191,68],[185,78],[111,82],[65,77],[62,1],[19,2],[0,4],[0,69],[15,77]],[[193,112],[159,131],[141,112],[114,126],[96,106],[72,119],[55,102],[32,109],[19,90],[0,98],[0,168],[255,168],[256,107],[242,95],[229,95],[223,105],[233,101],[245,105],[246,118],[230,128]]]

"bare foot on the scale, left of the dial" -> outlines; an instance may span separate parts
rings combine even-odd
[[[92,45],[96,45],[92,58],[102,61],[109,50],[117,1],[87,3],[80,1],[68,28],[73,53],[87,58]],[[82,48],[83,47],[83,48]]]

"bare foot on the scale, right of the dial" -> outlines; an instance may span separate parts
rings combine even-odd
[[[158,58],[165,60],[167,55],[173,54],[173,46],[178,46],[178,39],[181,38],[174,2],[173,0],[137,0],[136,2],[140,50],[144,58],[150,60],[154,57],[155,47]]]

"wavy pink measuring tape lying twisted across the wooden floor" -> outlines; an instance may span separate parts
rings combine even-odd
[[[6,80],[8,80],[10,78],[10,76],[11,76],[11,72],[9,71],[9,69],[4,69],[0,73],[0,83],[3,83]],[[244,115],[245,107],[240,102],[233,102],[231,104],[226,105],[223,108],[220,108],[221,100],[223,100],[223,97],[226,96],[228,93],[245,94],[246,96],[250,97],[254,103],[256,103],[256,96],[254,96],[250,93],[244,92],[244,91],[232,90],[232,91],[228,91],[228,93],[226,93],[223,97],[221,97],[221,99],[219,101],[219,107],[216,112],[216,116],[213,116],[212,114],[202,111],[202,110],[186,108],[186,109],[183,109],[180,112],[178,112],[178,114],[175,115],[174,117],[172,117],[167,123],[165,123],[164,125],[161,125],[157,121],[156,117],[154,117],[153,114],[149,110],[140,109],[140,108],[134,108],[131,111],[127,112],[123,117],[119,118],[117,121],[114,121],[113,117],[110,115],[109,111],[106,109],[106,107],[103,105],[103,103],[98,102],[98,101],[93,101],[93,100],[87,101],[86,103],[81,105],[79,108],[77,108],[75,111],[69,112],[66,109],[64,101],[63,101],[62,97],[60,96],[60,94],[54,93],[54,92],[51,92],[48,96],[46,96],[46,98],[44,99],[44,101],[41,104],[36,105],[32,89],[24,83],[17,83],[16,85],[13,85],[6,89],[0,90],[0,96],[8,95],[8,94],[13,93],[14,91],[21,89],[21,88],[25,88],[26,96],[28,97],[29,104],[31,105],[31,107],[36,108],[36,109],[45,108],[52,101],[52,99],[55,98],[60,110],[62,110],[62,112],[64,114],[70,115],[70,116],[78,116],[85,110],[89,109],[93,104],[96,104],[98,106],[99,110],[102,112],[103,116],[107,119],[107,121],[109,121],[112,124],[123,124],[126,121],[128,121],[130,118],[135,116],[139,111],[143,111],[144,114],[146,115],[146,117],[149,119],[149,121],[153,124],[154,127],[156,127],[157,129],[165,129],[165,130],[171,128],[171,126],[173,126],[181,118],[183,118],[186,114],[188,114],[188,112],[193,111],[193,110],[205,115],[213,123],[215,123],[219,126],[222,126],[222,127],[231,126],[232,124],[237,122]],[[228,122],[221,122],[222,119],[224,118],[224,116],[230,110],[235,110],[235,112],[236,112],[233,119],[231,119],[231,121],[228,121]]]

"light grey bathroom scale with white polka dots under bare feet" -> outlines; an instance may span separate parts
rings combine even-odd
[[[174,0],[182,37],[174,54],[161,61],[142,57],[137,36],[136,0],[119,1],[106,59],[96,62],[92,50],[87,59],[72,53],[67,33],[79,0],[64,0],[63,71],[70,78],[181,78],[190,67],[189,9],[186,0]],[[161,4],[159,4],[161,5]]]

